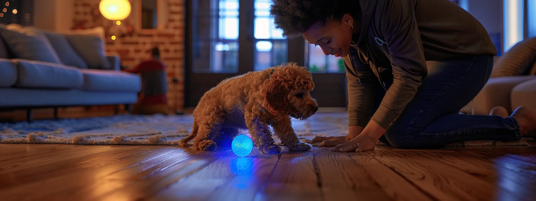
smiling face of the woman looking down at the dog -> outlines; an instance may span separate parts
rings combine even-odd
[[[302,34],[308,43],[322,48],[325,55],[345,57],[350,50],[352,34],[356,27],[353,26],[353,18],[345,14],[341,20],[331,20],[325,26],[317,23]]]

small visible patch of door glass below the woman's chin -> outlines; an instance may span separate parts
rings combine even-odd
[[[308,43],[308,68],[312,73],[345,73],[341,57],[324,55],[320,46]]]

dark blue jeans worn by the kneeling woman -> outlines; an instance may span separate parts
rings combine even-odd
[[[468,140],[507,142],[521,138],[513,117],[459,114],[489,79],[493,56],[426,63],[428,76],[381,142],[398,148],[436,148]],[[384,94],[382,88],[376,96],[376,107]]]

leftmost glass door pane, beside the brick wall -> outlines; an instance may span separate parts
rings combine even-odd
[[[238,72],[239,0],[193,2],[192,71]]]

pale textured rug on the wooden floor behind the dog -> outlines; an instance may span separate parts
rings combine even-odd
[[[0,124],[0,143],[86,145],[177,145],[190,134],[191,115],[116,115],[109,117],[43,120]],[[293,120],[300,139],[340,136],[348,133],[346,113],[317,113],[306,121]],[[247,131],[241,133],[249,135]],[[274,136],[276,142],[279,142]],[[383,143],[378,142],[378,145]],[[474,141],[449,146],[528,145],[518,142]]]

